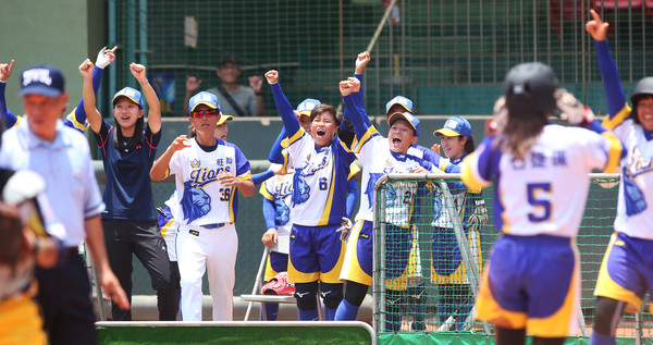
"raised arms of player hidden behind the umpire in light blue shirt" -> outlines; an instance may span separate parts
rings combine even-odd
[[[104,47],[98,52],[98,58],[96,59],[95,69],[93,71],[93,90],[95,94],[98,93],[100,87],[100,81],[102,79],[102,72],[104,71],[104,67],[115,61],[115,49],[118,49],[118,47],[113,47],[112,49],[107,49],[107,47]],[[21,116],[14,115],[9,109],[7,109],[7,101],[4,99],[7,81],[13,71],[13,60],[11,63],[0,63],[0,121],[2,121],[7,128],[13,127],[15,124],[21,122],[22,119]],[[75,107],[75,109],[73,109],[73,111],[71,111],[71,113],[65,118],[63,124],[79,132],[86,131],[88,127],[88,122],[86,122],[84,99],[79,100],[77,107]]]

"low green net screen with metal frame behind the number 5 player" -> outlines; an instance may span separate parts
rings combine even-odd
[[[619,189],[619,174],[590,174],[590,180],[577,236],[580,312],[577,331],[569,334],[569,342],[580,344],[589,343],[593,289],[614,232]],[[372,196],[372,322],[380,344],[399,340],[410,344],[423,337],[449,344],[452,336],[485,343],[493,336],[492,325],[473,318],[482,270],[500,235],[494,225],[493,196],[493,187],[480,196],[466,194],[459,174],[391,174],[377,182]],[[644,311],[621,318],[618,344],[653,344],[648,306],[644,303]]]

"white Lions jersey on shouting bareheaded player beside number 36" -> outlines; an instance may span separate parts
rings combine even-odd
[[[347,177],[356,158],[340,143],[317,147],[303,128],[286,144],[295,170],[291,219],[297,225],[340,224],[347,217]]]

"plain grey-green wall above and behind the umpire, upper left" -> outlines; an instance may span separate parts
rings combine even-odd
[[[0,20],[0,62],[15,60],[8,82],[9,109],[22,113],[21,71],[48,63],[60,67],[70,93],[67,111],[82,96],[82,75],[77,66],[86,58],[95,61],[106,37],[106,0],[21,0],[3,1]]]

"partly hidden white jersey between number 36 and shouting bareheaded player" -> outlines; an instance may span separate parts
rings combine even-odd
[[[276,164],[279,165],[279,164]],[[260,188],[260,194],[274,202],[274,223],[278,236],[289,236],[293,222],[291,222],[291,200],[293,199],[294,173],[275,175],[268,178]]]

